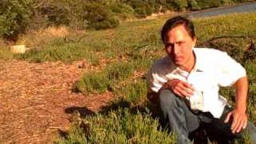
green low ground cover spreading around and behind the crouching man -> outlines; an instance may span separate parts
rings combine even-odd
[[[146,71],[154,60],[165,54],[160,30],[166,19],[126,22],[114,30],[89,30],[80,41],[53,39],[26,54],[13,55],[0,49],[0,58],[31,62],[86,59],[96,66],[101,58],[114,59],[101,71],[86,72],[74,84],[75,91],[85,94],[110,90],[116,96],[114,102],[97,114],[86,117],[76,114],[71,130],[56,143],[175,143],[175,134],[170,135],[160,126],[146,101]],[[193,21],[198,47],[225,50],[245,66],[250,84],[248,114],[250,121],[255,122],[256,14],[230,14]],[[217,39],[209,41],[211,38]],[[142,74],[134,77],[135,72]],[[222,88],[221,94],[234,104],[233,89]],[[85,123],[86,131],[81,128],[81,122]]]

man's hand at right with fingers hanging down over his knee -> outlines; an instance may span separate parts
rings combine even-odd
[[[247,126],[248,118],[244,110],[232,110],[226,115],[225,122],[229,122],[232,117],[231,130],[232,133],[239,133],[242,129]]]

